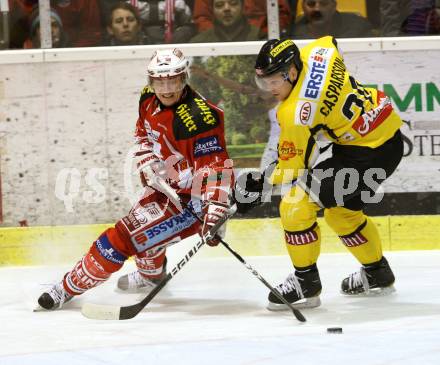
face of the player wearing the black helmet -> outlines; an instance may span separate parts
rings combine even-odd
[[[291,66],[289,71],[277,72],[266,77],[255,77],[257,86],[264,91],[270,92],[278,101],[286,100],[292,91],[292,83],[298,77],[295,66]],[[290,82],[289,82],[290,80]]]

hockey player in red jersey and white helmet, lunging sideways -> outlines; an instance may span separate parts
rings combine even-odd
[[[155,52],[139,101],[134,158],[144,196],[104,231],[73,269],[38,299],[47,310],[106,281],[134,256],[137,270],[118,280],[122,291],[151,290],[166,275],[166,248],[197,232],[211,246],[209,229],[229,210],[232,163],[223,111],[188,84],[189,62],[179,49]],[[154,183],[161,179],[167,189]],[[171,199],[174,190],[179,201]],[[183,203],[182,205],[180,203]],[[193,212],[198,212],[203,223]]]

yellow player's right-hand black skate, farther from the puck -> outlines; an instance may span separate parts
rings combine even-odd
[[[387,295],[395,291],[394,274],[385,257],[364,265],[342,281],[341,292],[346,295]]]

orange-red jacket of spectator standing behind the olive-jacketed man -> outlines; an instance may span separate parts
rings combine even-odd
[[[212,0],[194,0],[194,22],[199,32],[213,27]],[[280,31],[290,28],[291,12],[287,0],[278,0]],[[260,29],[262,35],[267,34],[266,0],[243,0],[243,14],[249,23]]]

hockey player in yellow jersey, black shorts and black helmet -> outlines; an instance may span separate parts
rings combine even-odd
[[[343,279],[341,291],[394,291],[394,275],[382,254],[377,228],[363,213],[403,155],[402,121],[390,100],[348,73],[330,36],[301,51],[290,39],[269,40],[260,50],[255,71],[257,85],[280,102],[278,161],[269,180],[294,182],[282,198],[280,216],[295,272],[278,290],[298,308],[320,305],[317,213],[324,209],[327,224],[361,264],[358,272]],[[330,143],[328,158],[320,154],[319,141]],[[286,306],[269,294],[268,308]]]

